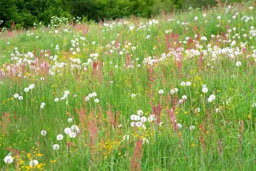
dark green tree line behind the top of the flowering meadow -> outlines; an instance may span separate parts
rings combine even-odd
[[[12,22],[18,28],[31,27],[34,22],[47,25],[52,16],[83,16],[96,22],[131,15],[150,17],[174,9],[216,4],[216,0],[0,0],[0,20],[4,21],[0,27],[10,28]]]

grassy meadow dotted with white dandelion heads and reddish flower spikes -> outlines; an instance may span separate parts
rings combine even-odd
[[[255,170],[255,3],[0,32],[2,170]]]

